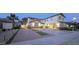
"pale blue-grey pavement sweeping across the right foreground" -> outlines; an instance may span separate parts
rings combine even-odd
[[[40,38],[40,39],[35,39],[35,40],[30,40],[30,41],[22,41],[22,42],[17,42],[15,45],[63,45],[65,42],[69,42],[71,40],[78,40],[79,38],[79,32],[77,31],[49,31],[49,30],[42,30],[46,33],[49,34],[55,34],[54,36],[51,37],[46,37],[46,38]],[[79,44],[79,40],[78,43]]]

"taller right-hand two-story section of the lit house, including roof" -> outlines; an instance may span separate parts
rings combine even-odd
[[[59,27],[65,27],[64,22],[65,16],[62,13],[50,16],[46,18],[45,26],[51,29],[58,29]]]

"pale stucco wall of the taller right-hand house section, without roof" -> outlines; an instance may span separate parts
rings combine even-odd
[[[59,18],[61,17],[61,19]],[[63,23],[60,23],[60,21],[64,21],[64,17],[61,15],[50,17],[46,19],[45,24],[49,24],[48,28],[58,28],[58,27],[65,27]]]

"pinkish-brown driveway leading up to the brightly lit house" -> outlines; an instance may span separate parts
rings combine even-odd
[[[20,29],[17,35],[14,37],[12,44],[16,42],[28,41],[41,38],[39,34],[32,30]]]

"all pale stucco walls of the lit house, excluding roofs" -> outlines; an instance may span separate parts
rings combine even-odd
[[[27,24],[30,25],[30,26],[35,27],[35,22],[32,22],[31,24],[29,23],[32,20],[33,19],[28,18]],[[43,26],[43,28],[46,28],[46,27],[48,27],[48,28],[65,27],[66,25],[63,24],[63,23],[60,23],[60,21],[64,21],[64,17],[61,16],[61,15],[57,15],[57,16],[54,16],[54,17],[49,17],[48,19],[45,19],[45,20],[42,21],[44,24],[41,24],[41,23],[38,22],[38,27],[40,27],[40,26]]]

